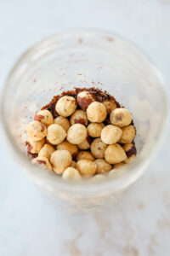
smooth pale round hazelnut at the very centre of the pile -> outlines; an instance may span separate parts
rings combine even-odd
[[[67,141],[72,144],[80,144],[86,140],[88,131],[84,125],[75,124],[71,125],[67,132]]]

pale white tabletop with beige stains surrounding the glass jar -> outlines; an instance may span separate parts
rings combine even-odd
[[[0,88],[31,44],[75,26],[111,30],[139,44],[163,74],[170,96],[169,0],[2,0]],[[20,171],[0,135],[0,255],[170,255],[168,143],[169,134],[115,206],[74,216],[59,212]]]

